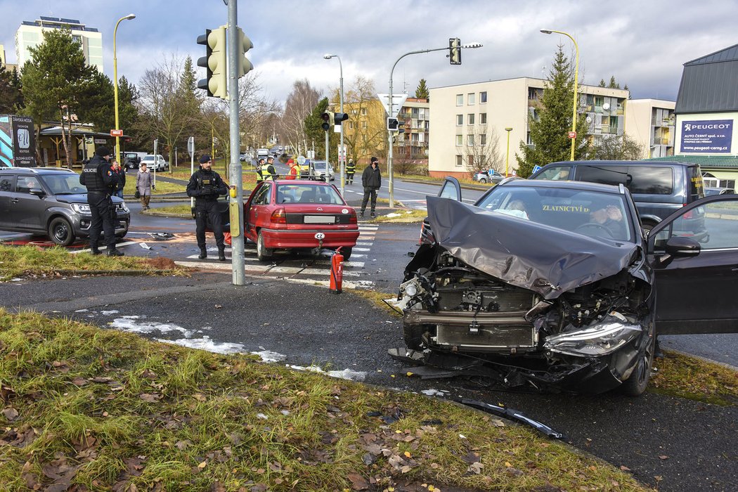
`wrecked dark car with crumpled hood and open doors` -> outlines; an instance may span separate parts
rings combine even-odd
[[[512,179],[468,205],[458,181],[446,179],[427,204],[397,302],[415,362],[461,373],[484,367],[508,387],[590,394],[619,387],[640,395],[657,333],[737,331],[737,308],[727,294],[715,299],[725,280],[701,284],[710,300],[691,289],[673,292],[675,283],[696,282],[700,265],[709,263],[714,277],[716,268],[735,268],[736,200],[683,207],[647,242],[622,186]],[[702,244],[679,229],[699,206],[733,214],[726,221],[706,214]],[[732,271],[730,291],[736,280]],[[660,294],[657,302],[660,288],[679,298]],[[703,302],[696,311],[687,307],[693,295]]]

